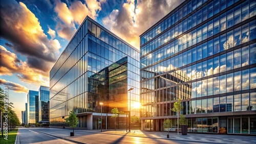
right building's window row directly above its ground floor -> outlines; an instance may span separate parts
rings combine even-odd
[[[215,112],[250,111],[256,109],[256,92],[226,95],[181,103],[181,114],[201,114]],[[144,105],[141,117],[177,115],[171,109],[174,103],[151,103]]]

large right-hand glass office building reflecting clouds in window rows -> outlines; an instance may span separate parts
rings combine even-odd
[[[256,1],[185,1],[140,36],[142,130],[256,134]]]

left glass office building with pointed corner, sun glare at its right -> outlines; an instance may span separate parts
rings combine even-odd
[[[50,126],[75,111],[78,127],[100,129],[102,102],[102,129],[113,129],[111,110],[139,116],[139,98],[139,50],[87,16],[50,71]]]

